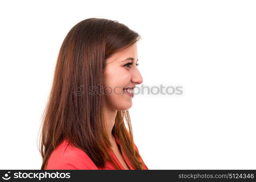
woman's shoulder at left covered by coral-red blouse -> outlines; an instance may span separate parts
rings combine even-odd
[[[48,159],[46,170],[98,169],[90,157],[81,149],[64,140],[54,149]]]

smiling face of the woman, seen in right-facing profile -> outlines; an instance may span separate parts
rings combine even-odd
[[[103,72],[104,91],[106,92],[107,107],[110,109],[126,111],[132,107],[133,95],[128,94],[123,88],[131,89],[143,82],[136,66],[137,60],[137,43],[113,54],[106,60],[106,67]]]

